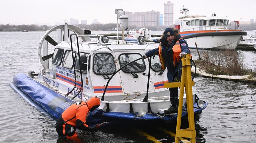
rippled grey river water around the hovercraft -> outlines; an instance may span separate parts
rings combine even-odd
[[[31,106],[9,87],[17,73],[38,71],[37,48],[44,32],[0,32],[0,142],[74,142],[59,138],[56,121],[43,111]],[[197,58],[195,49],[191,49]],[[201,51],[200,51],[201,52]],[[245,62],[253,66],[255,51],[238,51]],[[193,92],[208,102],[208,107],[196,116],[197,142],[256,142],[255,85],[203,77],[195,78]],[[151,143],[145,133],[163,143],[174,142],[165,130],[175,131],[173,123],[138,123],[96,132],[78,130],[81,142]],[[184,128],[187,126],[184,121]],[[127,124],[128,125],[128,124]]]

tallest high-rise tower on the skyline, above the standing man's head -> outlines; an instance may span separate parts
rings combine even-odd
[[[168,1],[164,4],[164,26],[173,25],[173,3]]]

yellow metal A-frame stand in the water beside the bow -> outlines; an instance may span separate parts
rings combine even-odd
[[[180,98],[179,98],[175,143],[179,142],[180,137],[190,138],[191,143],[196,142],[193,93],[192,93],[192,86],[195,85],[195,82],[191,80],[190,59],[191,59],[191,57],[189,54],[187,54],[185,58],[182,57],[182,59],[181,59],[182,60],[181,82],[173,82],[173,83],[165,83],[164,84],[164,88],[180,87]],[[185,87],[185,91],[186,91],[189,128],[180,129],[184,87]]]

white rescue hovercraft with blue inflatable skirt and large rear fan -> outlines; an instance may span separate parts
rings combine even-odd
[[[29,71],[29,77],[17,74],[10,87],[55,118],[73,103],[98,96],[101,104],[90,112],[89,125],[177,119],[177,113],[164,114],[171,105],[169,90],[163,87],[168,82],[167,70],[161,70],[157,55],[151,63],[142,57],[155,46],[146,44],[143,37],[139,44],[111,43],[107,36],[97,37],[101,41],[91,41],[90,35],[74,25],[53,27],[39,43],[40,72]],[[185,102],[186,95],[182,116],[187,114]],[[207,105],[193,94],[194,113]]]

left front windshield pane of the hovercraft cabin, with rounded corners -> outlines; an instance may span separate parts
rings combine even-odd
[[[96,53],[93,57],[93,72],[97,75],[115,73],[116,64],[113,55],[110,53]]]

